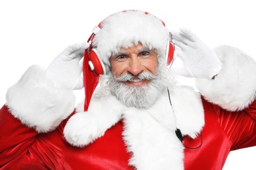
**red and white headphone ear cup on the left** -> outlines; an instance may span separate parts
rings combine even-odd
[[[104,63],[98,57],[98,54],[95,48],[92,48],[91,52],[89,52],[89,59],[91,59],[91,63],[89,63],[89,65],[92,71],[94,70],[97,75],[106,75],[106,69],[105,69]]]

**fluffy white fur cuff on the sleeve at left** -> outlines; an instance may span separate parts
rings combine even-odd
[[[9,88],[6,105],[22,124],[38,132],[47,132],[74,111],[75,95],[54,87],[45,70],[33,65]]]

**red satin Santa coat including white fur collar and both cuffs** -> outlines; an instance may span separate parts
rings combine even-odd
[[[190,147],[184,148],[184,169],[221,169],[230,150],[256,145],[256,67],[237,49],[225,46],[216,52],[223,71],[215,80],[198,80],[202,103],[197,92],[178,88],[170,93],[172,107],[165,91],[142,114],[113,105],[115,99],[108,96],[93,99],[95,110],[89,114],[78,107],[67,118],[74,95],[51,86],[42,69],[31,67],[9,89],[9,109],[1,109],[1,168],[183,169],[183,147],[173,135],[178,127],[184,146]]]

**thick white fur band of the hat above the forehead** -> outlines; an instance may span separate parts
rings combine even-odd
[[[152,14],[140,10],[127,10],[108,16],[93,39],[98,55],[109,64],[111,55],[120,47],[131,47],[141,42],[148,48],[156,48],[159,55],[165,54],[169,31],[163,22]]]

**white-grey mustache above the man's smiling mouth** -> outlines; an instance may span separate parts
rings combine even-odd
[[[136,80],[135,78],[139,78],[139,80]],[[139,75],[132,75],[131,73],[125,73],[119,77],[116,78],[119,82],[126,82],[126,81],[133,81],[133,82],[139,82],[141,80],[152,80],[156,78],[156,75],[153,75],[149,72],[142,72]]]

